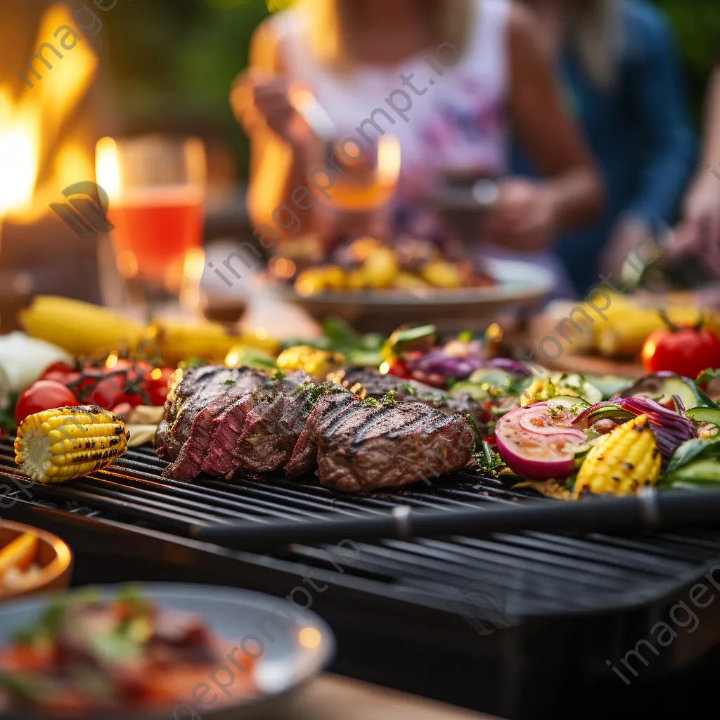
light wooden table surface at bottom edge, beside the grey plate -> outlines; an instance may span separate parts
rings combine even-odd
[[[498,720],[330,674],[314,680],[286,705],[272,711],[273,720]]]

